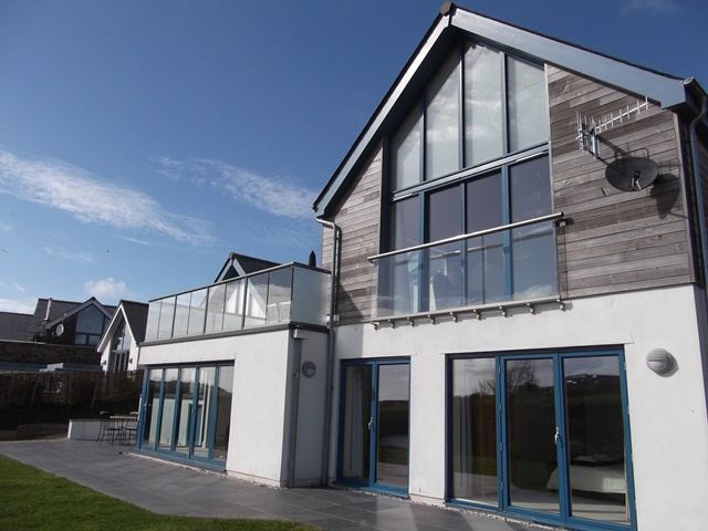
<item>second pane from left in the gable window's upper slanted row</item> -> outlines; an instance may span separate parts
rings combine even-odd
[[[428,85],[425,115],[426,179],[460,167],[460,62],[454,52]]]

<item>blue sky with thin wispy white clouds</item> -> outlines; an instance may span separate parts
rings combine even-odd
[[[708,83],[705,0],[459,3]],[[310,205],[439,4],[0,0],[0,310],[319,254]]]

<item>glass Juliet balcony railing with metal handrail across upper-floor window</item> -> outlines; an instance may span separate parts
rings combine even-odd
[[[533,301],[558,294],[562,212],[369,257],[375,319]]]

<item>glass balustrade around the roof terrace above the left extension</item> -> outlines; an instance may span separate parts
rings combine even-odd
[[[326,325],[329,274],[288,263],[150,301],[146,341],[282,323]]]

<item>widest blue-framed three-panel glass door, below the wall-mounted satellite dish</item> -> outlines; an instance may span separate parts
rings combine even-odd
[[[621,351],[455,356],[450,497],[586,529],[633,527]]]

